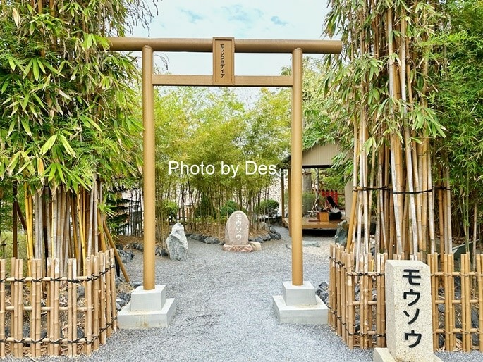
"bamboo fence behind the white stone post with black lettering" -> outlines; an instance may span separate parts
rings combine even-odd
[[[386,347],[386,254],[364,254],[355,271],[355,255],[332,245],[329,268],[329,325],[350,349]],[[395,255],[396,256],[396,255]],[[483,254],[456,263],[453,254],[428,254],[431,270],[434,351],[483,351]],[[459,264],[459,265],[458,265]]]

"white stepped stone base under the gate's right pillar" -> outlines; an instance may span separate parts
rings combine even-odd
[[[274,311],[279,323],[287,324],[327,324],[329,308],[315,295],[310,282],[303,285],[282,283],[282,295],[274,295]]]

